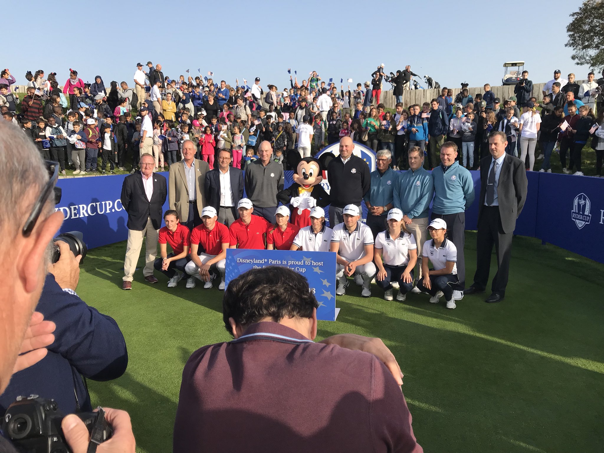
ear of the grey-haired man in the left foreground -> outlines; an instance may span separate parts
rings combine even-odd
[[[31,236],[21,240],[22,248],[17,257],[17,271],[23,280],[26,292],[36,291],[39,284],[39,275],[46,274],[44,255],[48,244],[63,223],[63,213],[56,211],[38,224]]]

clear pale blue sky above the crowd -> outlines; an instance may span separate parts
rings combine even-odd
[[[171,78],[187,76],[185,69],[196,76],[201,68],[202,76],[213,71],[214,80],[231,85],[236,77],[240,84],[246,79],[251,85],[258,76],[263,87],[273,83],[280,89],[289,86],[288,68],[292,75],[298,71],[298,80],[313,69],[323,80],[332,77],[338,86],[343,78],[344,87],[349,78],[354,85],[370,79],[381,63],[386,72],[408,64],[416,74],[453,87],[461,82],[501,85],[503,63],[510,60],[524,60],[533,82],[552,79],[554,69],[564,77],[575,72],[577,79],[585,79],[590,69],[575,65],[571,50],[564,47],[565,27],[579,0],[513,2],[506,8],[501,0],[382,2],[379,7],[357,0],[222,0],[209,10],[205,2],[188,0],[143,3],[145,10],[134,6],[141,2],[95,2],[94,11],[87,13],[92,3],[82,2],[83,13],[71,19],[66,11],[74,4],[57,1],[51,9],[64,19],[59,25],[49,25],[48,14],[22,14],[16,21],[5,21],[4,36],[14,41],[3,47],[0,66],[10,69],[20,85],[27,83],[25,71],[43,69],[46,74],[57,72],[62,86],[69,68],[74,68],[84,82],[94,82],[100,74],[106,86],[111,80],[126,80],[132,86],[136,63],[151,60],[161,63]],[[31,11],[50,12],[48,8],[48,2],[27,2]],[[513,20],[505,21],[508,14]],[[245,25],[229,30],[236,18]],[[35,41],[19,39],[25,22],[31,33],[37,30]],[[269,23],[275,31],[266,27]],[[370,37],[359,37],[357,28]],[[70,44],[72,33],[76,37]],[[234,45],[233,38],[240,44]],[[86,41],[78,47],[77,42]],[[36,48],[24,51],[24,45],[32,42],[37,42]],[[52,43],[48,50],[47,43]]]

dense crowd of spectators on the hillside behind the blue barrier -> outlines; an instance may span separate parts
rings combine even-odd
[[[63,172],[71,166],[74,175],[114,172],[126,165],[134,171],[144,152],[155,157],[156,170],[163,170],[181,159],[185,140],[195,143],[196,156],[211,169],[222,149],[232,150],[232,165],[243,168],[258,158],[259,143],[269,141],[272,157],[291,170],[288,155],[292,152],[310,156],[342,137],[351,137],[374,152],[390,150],[391,166],[401,170],[408,168],[406,153],[413,146],[425,151],[425,165],[431,169],[439,163],[440,146],[453,141],[460,149],[460,163],[476,170],[488,153],[487,138],[492,130],[506,132],[507,152],[524,160],[527,170],[542,160],[539,170],[551,172],[551,153],[555,151],[562,171],[576,175],[583,174],[581,145],[591,138],[590,146],[597,155],[596,175],[602,175],[604,72],[597,81],[590,72],[579,85],[574,74],[563,79],[556,70],[537,97],[528,71],[524,71],[515,95],[504,100],[495,97],[486,84],[482,93],[472,95],[463,88],[455,97],[445,87],[430,102],[409,106],[402,103],[402,93],[409,88],[411,76],[417,76],[410,66],[392,77],[379,66],[364,84],[348,85],[347,89],[342,84],[339,90],[333,79],[326,82],[316,71],[301,82],[290,76],[289,86],[282,91],[271,84],[263,88],[259,77],[251,86],[247,80],[229,85],[201,75],[170,79],[161,65],[152,62],[146,67],[137,64],[133,88],[115,81],[106,87],[101,76],[84,83],[77,71],[70,69],[69,74],[61,87],[56,73],[45,78],[42,70],[28,72],[27,95],[21,101],[21,113],[15,115],[19,97],[10,86],[16,80],[5,69],[0,77],[0,106],[5,120],[20,121],[40,152],[60,162]],[[394,112],[380,102],[385,80],[397,100]],[[577,108],[574,114],[570,104]],[[585,114],[580,109],[583,104]],[[141,115],[141,107],[147,108],[149,121]],[[557,107],[563,108],[562,116]],[[575,129],[579,118],[584,119]],[[542,122],[547,130],[541,130]],[[74,123],[80,123],[77,132]]]

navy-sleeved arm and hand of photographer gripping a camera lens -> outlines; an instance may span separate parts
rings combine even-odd
[[[20,395],[54,399],[64,413],[92,411],[82,376],[93,381],[117,379],[126,371],[126,341],[117,323],[89,307],[76,294],[80,259],[58,241],[60,258],[48,265],[36,310],[56,324],[54,342],[40,362],[13,374],[0,396],[0,413]],[[80,374],[82,376],[80,376]]]

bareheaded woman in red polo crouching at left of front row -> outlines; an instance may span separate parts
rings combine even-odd
[[[185,275],[185,265],[190,260],[188,251],[191,232],[180,223],[175,210],[165,211],[164,221],[165,226],[159,228],[158,234],[160,257],[153,262],[153,267],[170,279],[168,288],[174,288]],[[167,244],[172,247],[172,253],[168,253]]]

